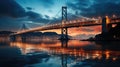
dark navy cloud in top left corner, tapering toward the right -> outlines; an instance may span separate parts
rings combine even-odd
[[[47,2],[47,0],[43,2]],[[27,9],[32,10],[31,7],[27,7]],[[14,18],[23,18],[27,16],[27,20],[44,20],[41,14],[33,11],[26,12],[24,8],[22,8],[14,0],[0,0],[0,16],[8,16]]]

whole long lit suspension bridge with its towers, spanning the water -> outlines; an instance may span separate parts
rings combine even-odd
[[[89,20],[85,20],[85,21],[81,21],[81,20],[68,21],[67,7],[63,6],[61,23],[50,24],[50,25],[36,27],[36,28],[28,29],[28,30],[18,31],[16,33],[11,34],[10,37],[12,37],[12,39],[15,39],[16,36],[21,36],[21,37],[25,38],[25,35],[24,35],[25,33],[35,32],[35,31],[52,30],[52,29],[61,29],[61,37],[59,39],[60,40],[68,40],[69,39],[68,38],[68,28],[101,25],[102,33],[104,33],[104,32],[108,32],[112,28],[112,24],[118,24],[118,23],[120,23],[119,17],[109,18],[108,16],[106,16],[105,18],[89,19]]]

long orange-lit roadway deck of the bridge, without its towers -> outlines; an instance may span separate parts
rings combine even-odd
[[[117,24],[120,22],[120,18],[113,18],[110,20],[109,24]],[[70,21],[66,22],[64,24],[51,24],[51,25],[45,25],[42,27],[32,28],[29,30],[23,30],[11,35],[19,35],[23,33],[33,32],[33,31],[44,31],[44,30],[52,30],[52,29],[61,29],[61,28],[72,28],[72,27],[87,27],[87,26],[97,26],[101,25],[102,20],[90,20],[90,21]]]

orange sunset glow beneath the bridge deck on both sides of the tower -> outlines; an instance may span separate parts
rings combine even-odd
[[[57,34],[61,34],[61,29],[46,30],[46,31],[42,31],[42,32],[56,32]],[[96,35],[96,34],[99,34],[100,32],[101,32],[101,26],[68,28],[68,35],[70,35],[70,36],[77,36],[77,35],[81,35],[81,34]]]

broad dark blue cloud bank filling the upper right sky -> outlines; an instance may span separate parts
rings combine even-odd
[[[120,0],[76,0],[68,6],[86,17],[120,15]]]

